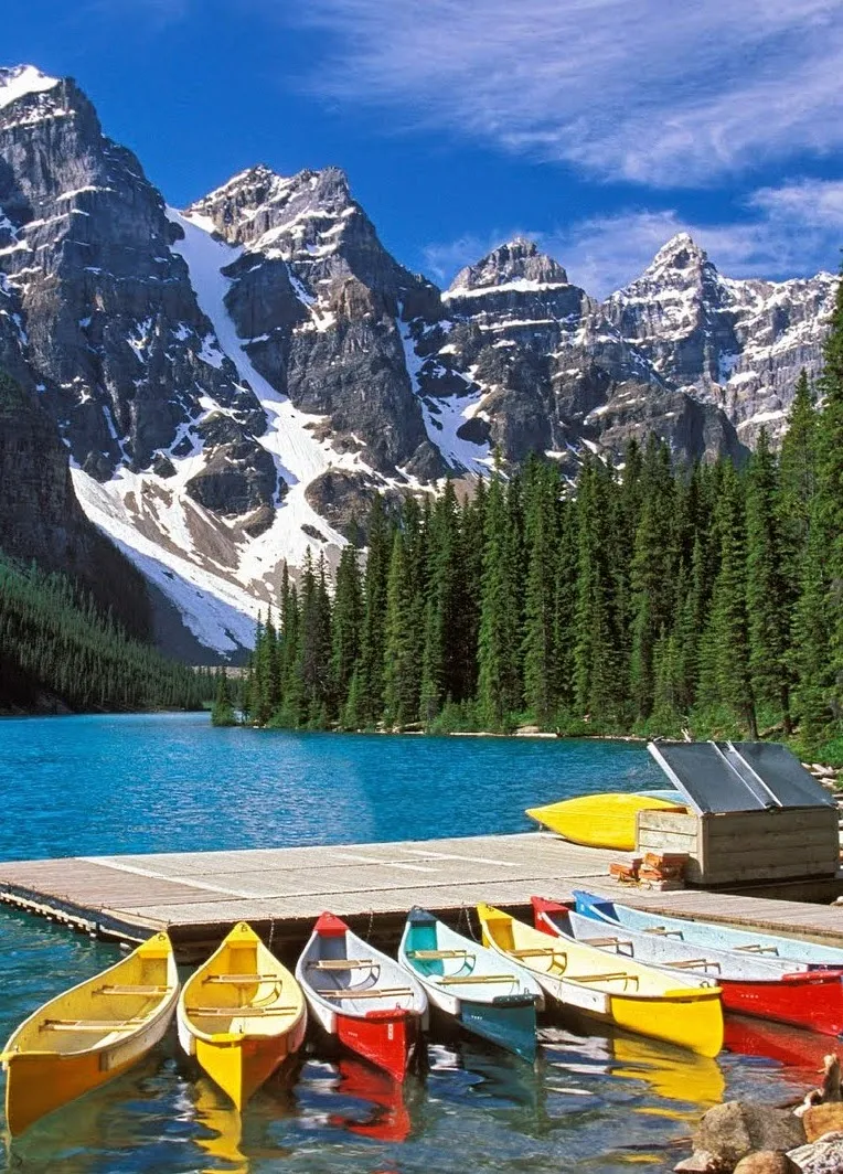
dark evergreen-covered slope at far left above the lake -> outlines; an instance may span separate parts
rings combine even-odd
[[[213,688],[128,636],[66,575],[0,555],[0,711],[198,709]]]

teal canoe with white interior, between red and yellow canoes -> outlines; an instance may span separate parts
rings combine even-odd
[[[432,913],[413,909],[398,962],[424,986],[432,1006],[460,1027],[525,1060],[535,1058],[535,1012],[544,1007],[538,981]]]

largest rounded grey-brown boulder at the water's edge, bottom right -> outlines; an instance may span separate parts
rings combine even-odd
[[[758,1149],[794,1149],[805,1140],[802,1120],[787,1109],[768,1105],[727,1101],[703,1116],[694,1134],[694,1148],[714,1154],[721,1169],[733,1170]]]

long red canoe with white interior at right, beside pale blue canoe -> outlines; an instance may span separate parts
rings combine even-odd
[[[586,909],[588,916],[584,916]],[[593,904],[578,900],[574,910],[533,897],[535,927],[546,933],[568,935],[581,942],[600,938],[589,944],[677,974],[709,977],[721,987],[723,1006],[729,1011],[808,1027],[824,1035],[843,1032],[842,971],[800,969],[785,959],[716,950],[656,930],[647,932],[628,924],[623,912],[625,906],[602,898],[594,898]]]

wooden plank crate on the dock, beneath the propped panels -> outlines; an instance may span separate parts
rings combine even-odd
[[[639,811],[636,850],[687,852],[692,884],[830,877],[839,865],[837,811]]]

